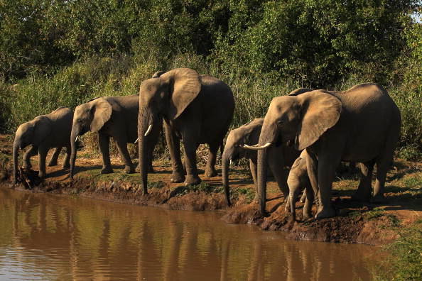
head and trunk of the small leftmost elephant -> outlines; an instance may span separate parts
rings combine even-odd
[[[15,183],[18,181],[18,150],[28,145],[38,147],[50,132],[51,121],[45,116],[38,116],[18,127],[13,141],[13,180]]]

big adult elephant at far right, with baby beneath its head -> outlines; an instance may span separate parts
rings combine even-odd
[[[271,101],[259,136],[258,187],[261,211],[266,205],[266,158],[269,146],[288,141],[306,148],[310,183],[318,194],[316,219],[335,216],[331,187],[341,160],[362,163],[356,198],[371,197],[371,179],[377,163],[374,199],[384,195],[386,172],[399,139],[401,115],[384,88],[359,84],[345,92],[315,90]]]

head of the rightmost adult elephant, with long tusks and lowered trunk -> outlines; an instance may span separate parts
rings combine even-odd
[[[257,182],[263,214],[266,205],[266,148],[281,143],[291,143],[297,150],[308,148],[335,126],[341,111],[340,99],[323,90],[276,97],[271,101],[258,145],[248,146],[249,149],[259,150]]]

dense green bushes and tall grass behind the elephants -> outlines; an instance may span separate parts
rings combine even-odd
[[[401,155],[420,157],[420,7],[418,0],[0,0],[0,128],[13,131],[90,97],[133,94],[156,70],[193,67],[230,84],[234,126],[296,87],[377,82],[403,114]]]

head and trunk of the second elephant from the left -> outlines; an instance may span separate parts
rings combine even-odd
[[[112,105],[107,99],[99,97],[88,101],[86,104],[76,106],[73,114],[72,133],[70,133],[70,144],[72,152],[70,155],[70,177],[73,177],[73,169],[76,160],[76,139],[87,131],[97,132],[101,130],[104,123],[112,116]]]

